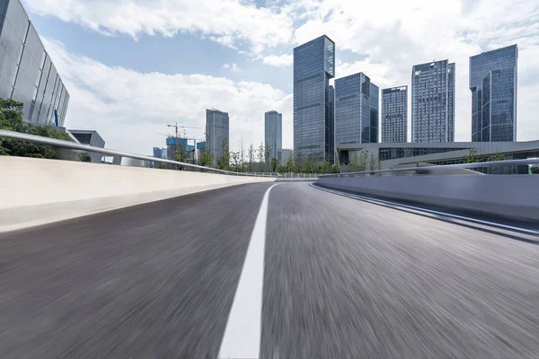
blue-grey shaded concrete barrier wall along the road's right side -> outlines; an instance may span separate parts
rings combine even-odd
[[[328,188],[539,221],[539,176],[458,175],[326,178]]]

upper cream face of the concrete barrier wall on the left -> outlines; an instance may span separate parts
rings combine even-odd
[[[0,156],[0,209],[273,180]]]

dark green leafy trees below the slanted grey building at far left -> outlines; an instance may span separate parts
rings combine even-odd
[[[33,126],[22,121],[22,102],[0,98],[0,129],[70,141],[71,138],[52,126]],[[0,139],[0,154],[34,158],[58,158],[58,149],[47,144]]]

